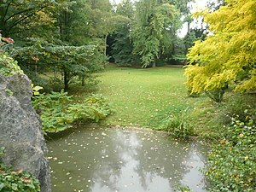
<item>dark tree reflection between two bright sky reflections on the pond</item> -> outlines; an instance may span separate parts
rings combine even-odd
[[[185,151],[187,145],[165,142],[166,139],[147,134],[141,137],[140,152],[135,157],[140,164],[135,171],[140,177],[143,188],[147,189],[148,174],[149,182],[159,176],[169,180],[171,188],[180,183],[183,175],[189,172],[189,167],[183,164],[183,161],[188,158],[187,151]]]

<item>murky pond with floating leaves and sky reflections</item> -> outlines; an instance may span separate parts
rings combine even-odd
[[[207,148],[153,131],[81,128],[48,141],[53,192],[205,191]]]

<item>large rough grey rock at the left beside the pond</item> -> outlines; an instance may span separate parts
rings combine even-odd
[[[0,74],[0,147],[5,147],[5,164],[31,172],[38,177],[41,191],[50,192],[47,148],[31,97],[26,75]]]

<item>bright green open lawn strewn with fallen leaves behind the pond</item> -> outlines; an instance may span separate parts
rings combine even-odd
[[[97,93],[107,97],[115,113],[105,123],[157,128],[170,116],[187,115],[209,102],[190,98],[182,67],[136,69],[108,67],[98,74]]]

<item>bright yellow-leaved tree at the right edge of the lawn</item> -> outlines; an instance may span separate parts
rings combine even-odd
[[[229,86],[256,91],[256,1],[226,0],[217,11],[203,11],[211,34],[189,50],[186,85],[190,93],[206,91],[220,102]]]

